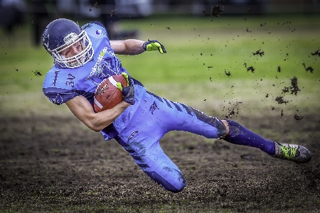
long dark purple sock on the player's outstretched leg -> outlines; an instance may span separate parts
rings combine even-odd
[[[268,153],[269,155],[274,155],[274,142],[266,140],[261,136],[253,133],[249,129],[246,129],[244,126],[241,126],[235,121],[226,120],[229,124],[229,133],[223,138],[223,140],[230,143],[243,145],[243,146],[252,146],[255,148],[260,148],[261,151]]]

